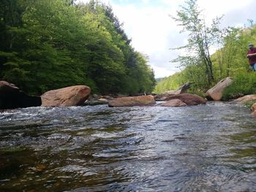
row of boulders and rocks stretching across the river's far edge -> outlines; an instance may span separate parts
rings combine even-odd
[[[91,95],[91,88],[86,85],[75,85],[67,88],[48,91],[42,96],[29,96],[10,82],[0,81],[0,110],[24,107],[69,107],[83,105],[108,104],[109,107],[154,106],[156,101],[162,101],[158,106],[184,107],[197,104],[206,104],[208,100],[219,101],[223,91],[232,83],[230,77],[217,83],[206,92],[206,99],[195,94],[186,93],[190,84],[182,85],[176,91],[155,96],[97,96]],[[231,103],[245,104],[256,101],[256,95],[243,96]],[[252,103],[252,114],[256,115],[256,103]]]

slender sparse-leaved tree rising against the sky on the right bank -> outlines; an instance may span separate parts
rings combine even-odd
[[[197,7],[197,0],[188,0],[186,3],[187,7],[181,7],[176,18],[172,18],[178,23],[178,26],[182,26],[181,32],[188,33],[188,45],[178,47],[178,49],[187,49],[188,55],[185,57],[180,55],[175,61],[181,62],[185,66],[196,63],[197,66],[203,68],[207,76],[207,86],[210,87],[214,82],[210,50],[217,43],[219,34],[222,33],[218,28],[221,18],[214,19],[211,26],[206,26],[202,11]]]

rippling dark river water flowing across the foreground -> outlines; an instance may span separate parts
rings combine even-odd
[[[0,191],[256,191],[248,107],[0,112]]]

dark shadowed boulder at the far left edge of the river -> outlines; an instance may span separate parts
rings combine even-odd
[[[29,96],[16,85],[0,81],[0,110],[37,107],[42,104],[39,96]]]

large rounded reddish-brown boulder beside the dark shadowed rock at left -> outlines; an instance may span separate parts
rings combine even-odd
[[[86,85],[75,85],[60,88],[42,94],[42,106],[69,107],[83,105],[91,93],[91,88]]]

